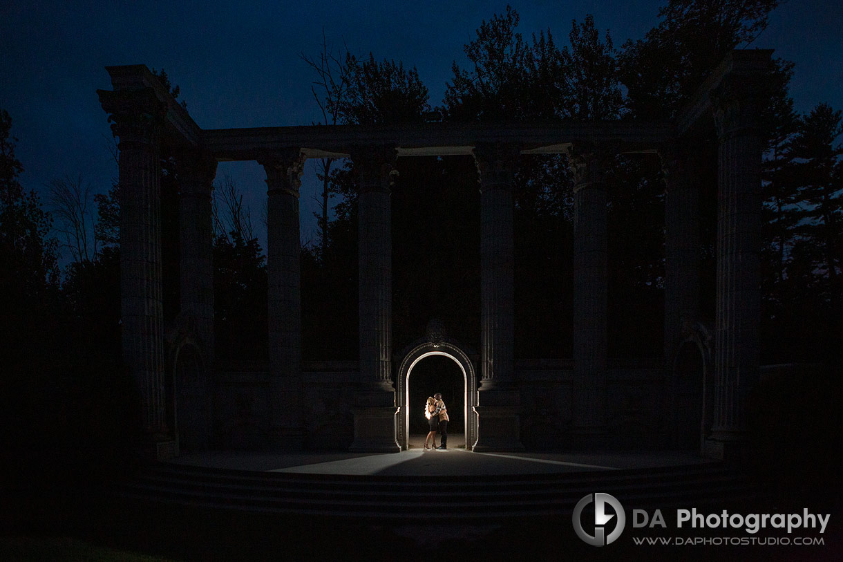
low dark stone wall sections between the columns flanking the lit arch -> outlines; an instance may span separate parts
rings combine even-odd
[[[521,397],[521,436],[527,450],[564,449],[576,421],[572,359],[522,359],[515,363]],[[214,415],[217,446],[260,449],[270,427],[266,363],[221,365]],[[345,451],[354,438],[357,361],[303,362],[303,426],[309,450]],[[666,445],[667,375],[652,361],[609,360],[606,373],[607,445]],[[481,427],[482,431],[482,427]]]

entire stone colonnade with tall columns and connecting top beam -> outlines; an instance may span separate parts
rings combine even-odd
[[[713,417],[706,418],[710,431],[701,447],[711,457],[739,451],[746,437],[747,392],[759,374],[762,146],[755,123],[756,84],[770,57],[771,51],[733,51],[672,123],[436,122],[203,130],[147,67],[107,68],[113,89],[98,93],[119,138],[122,357],[137,387],[148,453],[157,458],[178,454],[178,420],[176,427],[169,422],[173,416],[167,412],[170,385],[164,365],[166,348],[175,343],[164,336],[162,154],[175,160],[179,179],[177,341],[196,349],[194,369],[200,365],[207,387],[218,378],[213,375],[211,224],[217,162],[253,160],[266,170],[270,353],[261,423],[266,446],[293,450],[306,446],[314,434],[306,419],[314,400],[309,388],[318,383],[318,373],[308,374],[301,360],[299,178],[305,159],[352,159],[360,190],[360,356],[355,368],[331,379],[352,397],[347,408],[354,427],[352,451],[399,451],[406,446],[400,423],[405,382],[394,382],[399,375],[394,367],[398,370],[405,358],[394,356],[391,341],[389,197],[395,160],[472,156],[481,188],[481,349],[472,359],[479,381],[468,389],[468,403],[477,418],[467,424],[472,442],[466,446],[513,451],[524,448],[523,427],[530,428],[531,438],[545,431],[550,441],[561,439],[566,445],[610,442],[606,436],[616,409],[611,397],[628,377],[636,376],[610,365],[607,358],[604,169],[615,154],[658,152],[666,170],[667,364],[690,332],[699,334],[698,201],[701,188],[714,186],[694,181],[689,150],[679,147],[693,147],[701,134],[712,130],[718,139],[717,305],[714,335],[706,340],[713,349]],[[513,169],[520,154],[560,153],[570,154],[576,173],[570,368],[519,364],[513,357]],[[664,368],[641,376],[652,388],[664,387],[669,379]],[[647,396],[654,396],[652,392]],[[212,419],[213,401],[197,400],[191,408]],[[209,422],[199,426],[210,427]]]

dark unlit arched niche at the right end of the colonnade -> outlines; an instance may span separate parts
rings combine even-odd
[[[674,361],[672,442],[685,450],[699,450],[706,438],[706,362],[700,346],[687,341]]]

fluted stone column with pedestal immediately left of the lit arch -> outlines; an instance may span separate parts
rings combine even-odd
[[[359,196],[360,378],[351,451],[400,451],[392,384],[392,147],[352,150]]]

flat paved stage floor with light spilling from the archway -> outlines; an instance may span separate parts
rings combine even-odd
[[[208,451],[185,453],[173,462],[283,473],[389,476],[568,473],[706,462],[691,451],[475,453],[465,451],[461,441],[447,451],[425,451],[421,448],[423,440],[423,436],[411,437],[409,451],[387,454]]]

